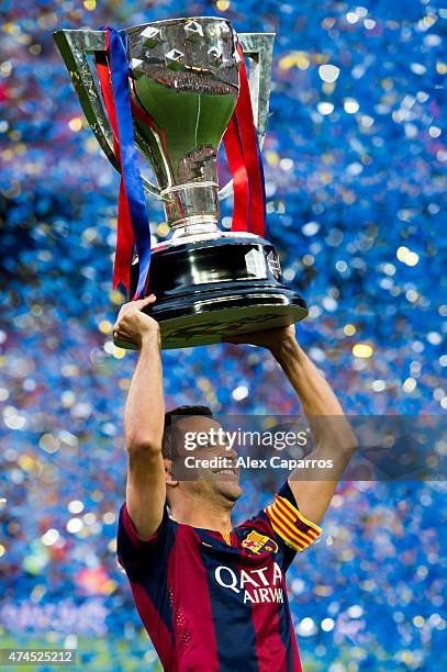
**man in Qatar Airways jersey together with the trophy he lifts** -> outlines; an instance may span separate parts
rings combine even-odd
[[[301,672],[286,572],[319,540],[356,441],[295,339],[292,325],[306,306],[282,284],[265,238],[258,145],[273,35],[236,35],[227,21],[199,18],[59,31],[56,42],[87,120],[121,172],[113,287],[123,283],[132,300],[120,310],[114,343],[139,354],[124,408],[116,555],[136,609],[168,672]],[[233,178],[231,231],[220,227],[220,199],[232,189],[217,183],[222,139]],[[136,148],[156,184],[141,175]],[[163,201],[170,228],[152,249],[144,190]],[[165,412],[160,356],[161,345],[221,340],[270,351],[313,437],[309,460],[295,460],[275,500],[235,527],[244,468],[236,447],[208,406]],[[191,435],[200,436],[192,469]],[[254,462],[267,464],[266,447],[257,448],[266,459]]]

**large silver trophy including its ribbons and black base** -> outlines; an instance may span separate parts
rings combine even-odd
[[[259,146],[273,40],[237,35],[214,18],[55,33],[86,117],[121,172],[113,288],[122,282],[130,299],[157,296],[144,310],[159,323],[164,348],[219,343],[308,314],[303,299],[282,284],[265,238]],[[233,179],[220,189],[222,139]],[[156,184],[141,175],[137,149]],[[224,231],[220,199],[232,189],[232,228]],[[152,249],[144,191],[163,201],[170,228]]]

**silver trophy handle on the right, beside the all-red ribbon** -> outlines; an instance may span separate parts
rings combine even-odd
[[[250,89],[253,116],[262,148],[267,132],[270,100],[271,65],[273,60],[275,33],[237,33],[244,56],[249,58],[248,85]],[[233,192],[233,180],[219,191],[221,200]]]

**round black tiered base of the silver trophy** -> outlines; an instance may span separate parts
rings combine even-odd
[[[271,243],[258,236],[225,233],[160,246],[153,250],[147,289],[157,301],[143,312],[159,323],[164,349],[288,326],[303,320],[308,307],[280,277]],[[134,262],[133,287],[136,278]],[[119,338],[114,344],[137,349]]]

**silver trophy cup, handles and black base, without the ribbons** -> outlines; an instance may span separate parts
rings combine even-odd
[[[164,203],[170,236],[152,249],[147,313],[160,324],[164,348],[209,345],[224,337],[286,326],[306,316],[304,300],[281,282],[268,240],[219,227],[217,150],[239,92],[241,44],[259,145],[269,105],[275,34],[236,34],[216,18],[172,19],[125,29],[131,96],[154,124],[133,116],[136,145],[157,184],[143,187]],[[109,160],[120,169],[112,131],[89,63],[105,49],[102,31],[54,35],[86,117]],[[133,290],[138,258],[131,268]],[[131,291],[133,294],[133,291]],[[133,344],[115,340],[133,348]]]

